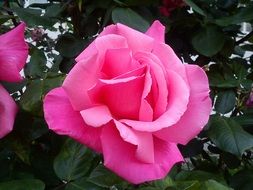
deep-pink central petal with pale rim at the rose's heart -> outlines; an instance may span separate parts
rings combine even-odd
[[[106,105],[114,118],[138,119],[144,76],[99,80],[89,91],[94,103]]]

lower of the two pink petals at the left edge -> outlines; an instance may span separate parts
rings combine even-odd
[[[12,130],[17,111],[14,100],[0,85],[0,138]]]

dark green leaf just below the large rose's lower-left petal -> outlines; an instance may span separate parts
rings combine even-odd
[[[84,145],[68,139],[54,160],[56,175],[67,182],[84,177],[91,167],[93,153]]]

